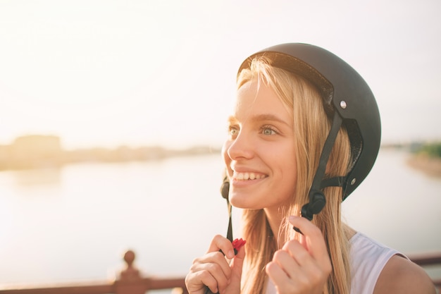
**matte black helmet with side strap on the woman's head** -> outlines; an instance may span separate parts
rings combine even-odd
[[[343,188],[342,200],[346,199],[371,171],[380,149],[380,114],[371,89],[361,75],[345,61],[310,44],[279,44],[263,49],[249,56],[240,66],[239,73],[242,69],[249,68],[252,59],[259,56],[268,56],[272,66],[301,75],[321,92],[325,110],[333,119],[333,127],[323,147],[309,193],[310,204],[315,202],[314,198],[322,197],[321,188],[333,185]],[[341,125],[344,125],[349,135],[352,165],[347,175],[323,179],[325,166]],[[318,212],[323,206],[324,202],[323,205],[318,204]],[[311,218],[312,214],[318,213],[314,212],[317,209],[313,207],[309,209],[312,209]]]

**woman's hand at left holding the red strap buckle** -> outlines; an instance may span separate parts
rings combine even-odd
[[[213,293],[240,294],[244,257],[244,247],[235,256],[230,240],[216,235],[211,240],[206,255],[194,259],[190,272],[185,277],[188,292],[205,294],[208,286]]]

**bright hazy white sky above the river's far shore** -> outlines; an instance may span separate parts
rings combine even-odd
[[[220,146],[250,54],[315,44],[375,94],[382,142],[441,140],[441,1],[0,0],[0,145]]]

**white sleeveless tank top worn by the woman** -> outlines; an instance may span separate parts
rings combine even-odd
[[[394,255],[402,255],[397,250],[386,247],[362,233],[355,233],[351,240],[349,265],[351,267],[351,293],[372,294],[378,276]],[[271,278],[268,278],[266,294],[276,294]]]

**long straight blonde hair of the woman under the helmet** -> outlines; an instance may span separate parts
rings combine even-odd
[[[280,207],[283,216],[299,215],[301,207],[309,202],[308,193],[316,172],[325,139],[330,130],[330,118],[325,114],[323,100],[313,85],[299,75],[275,68],[265,57],[254,59],[251,67],[241,71],[237,89],[250,80],[264,82],[271,87],[282,102],[293,112],[295,151],[297,156],[297,185],[292,201]],[[325,177],[344,176],[350,161],[350,145],[346,131],[337,135],[330,154]],[[349,240],[342,224],[340,203],[342,189],[329,187],[323,190],[327,204],[313,223],[321,229],[328,247],[333,272],[325,284],[325,294],[349,294]],[[243,210],[243,237],[247,240],[242,293],[265,293],[265,267],[275,250],[285,240],[299,238],[289,223],[282,222],[279,232],[272,232],[263,209]]]

